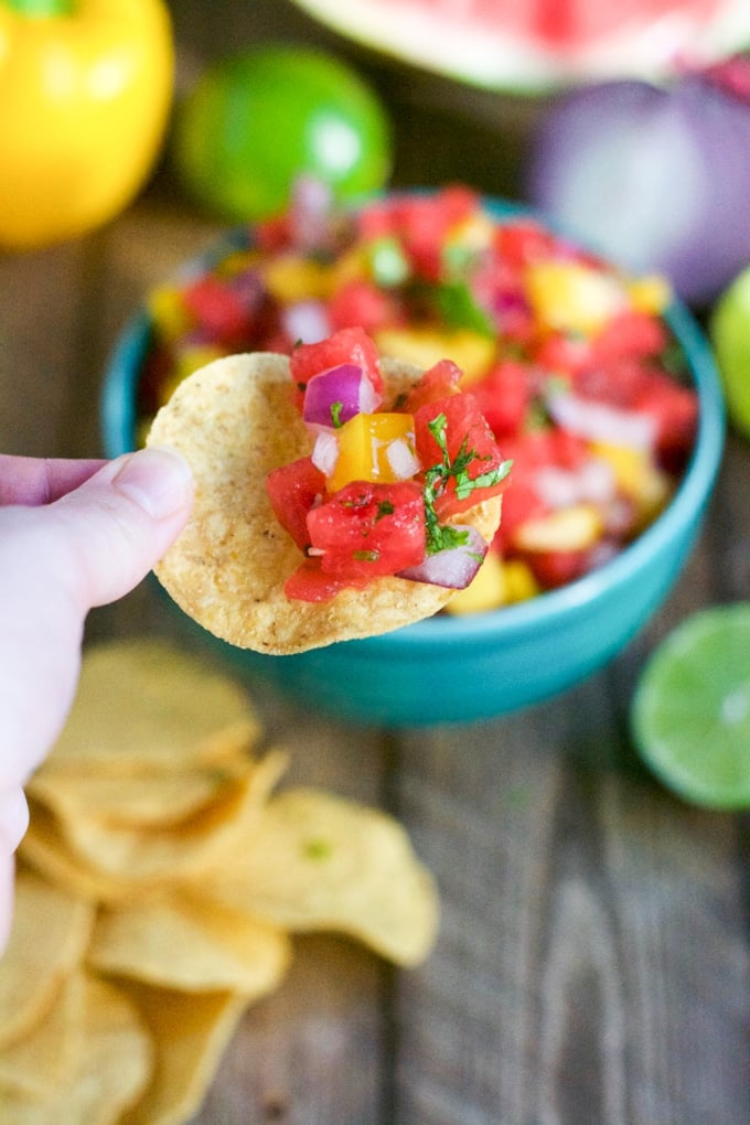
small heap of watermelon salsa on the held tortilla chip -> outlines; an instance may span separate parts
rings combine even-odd
[[[289,366],[314,446],[266,478],[305,557],[287,596],[326,601],[389,575],[467,587],[488,543],[461,515],[498,496],[510,466],[459,368],[442,360],[386,403],[378,351],[359,327],[299,344]]]

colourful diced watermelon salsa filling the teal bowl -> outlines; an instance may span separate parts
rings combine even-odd
[[[513,471],[491,549],[449,612],[494,609],[602,565],[672,495],[697,396],[663,316],[670,299],[663,279],[626,276],[523,212],[494,214],[464,186],[342,212],[302,183],[283,215],[235,233],[213,261],[152,292],[139,413],[147,424],[186,375],[238,351],[289,354],[306,386],[307,345],[341,330],[360,328],[376,353],[424,370],[450,360],[471,396],[443,397],[471,397]],[[328,366],[364,363],[372,375],[369,362],[352,352]],[[377,376],[372,384],[378,392]],[[378,412],[364,402],[358,413]],[[336,441],[353,440],[351,420],[338,421]],[[300,470],[301,506],[318,486]],[[360,515],[377,524],[382,510],[371,504]]]

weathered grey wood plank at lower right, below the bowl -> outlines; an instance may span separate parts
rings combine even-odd
[[[602,718],[606,680],[460,738],[405,740],[400,811],[444,918],[401,981],[398,1122],[699,1125],[710,1106],[747,1119],[737,822],[606,748],[621,737]]]

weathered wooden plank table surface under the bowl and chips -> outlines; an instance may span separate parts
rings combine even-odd
[[[173,6],[181,80],[201,56],[284,34],[287,3]],[[367,66],[397,126],[396,181],[517,190],[534,107]],[[219,230],[162,170],[107,228],[0,256],[0,449],[100,452],[98,396],[144,290]],[[259,692],[292,780],[377,803],[434,872],[442,924],[398,972],[334,937],[297,940],[251,1008],[200,1125],[746,1125],[747,820],[688,808],[636,764],[626,711],[660,637],[750,590],[750,446],[730,438],[697,550],[605,670],[523,714],[458,729],[354,729]],[[146,582],[88,638],[181,637]]]

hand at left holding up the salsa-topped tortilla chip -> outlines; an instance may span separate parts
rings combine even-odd
[[[0,952],[22,786],[67,717],[90,609],[127,594],[184,525],[190,470],[145,449],[115,461],[0,454]]]

